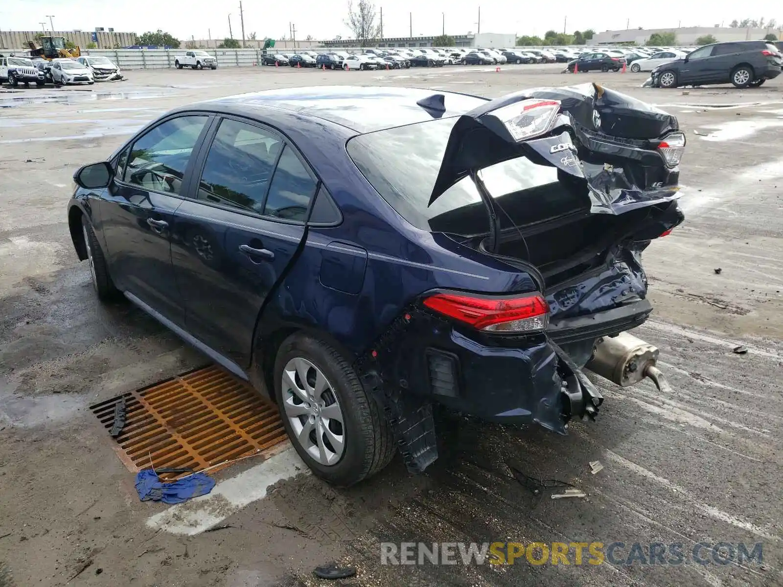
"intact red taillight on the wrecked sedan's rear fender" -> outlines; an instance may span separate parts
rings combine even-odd
[[[520,297],[474,297],[467,294],[435,294],[424,305],[485,332],[533,333],[549,323],[549,304],[540,294]]]

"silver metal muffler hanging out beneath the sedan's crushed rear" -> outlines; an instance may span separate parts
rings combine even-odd
[[[668,384],[666,377],[655,366],[658,355],[658,347],[622,332],[616,337],[599,339],[593,358],[585,367],[620,387],[637,384],[649,377],[655,387],[662,391]]]

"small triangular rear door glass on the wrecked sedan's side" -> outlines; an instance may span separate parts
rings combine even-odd
[[[294,149],[286,146],[272,177],[272,185],[269,186],[264,214],[303,222],[315,193],[316,181],[294,153]]]

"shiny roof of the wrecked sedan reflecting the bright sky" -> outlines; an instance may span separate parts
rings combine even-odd
[[[434,94],[444,96],[446,111],[442,114],[435,115],[417,104],[417,101]],[[422,88],[316,86],[233,95],[199,103],[188,109],[203,107],[207,110],[226,110],[248,117],[262,113],[266,116],[269,109],[287,110],[365,133],[431,121],[433,118],[460,116],[486,101],[475,95],[433,92]]]

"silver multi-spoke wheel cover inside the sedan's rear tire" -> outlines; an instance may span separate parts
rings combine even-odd
[[[336,464],[345,452],[345,418],[334,387],[306,358],[283,369],[283,410],[294,441],[321,465]]]

